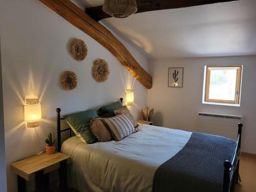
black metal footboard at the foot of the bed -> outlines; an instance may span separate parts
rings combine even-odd
[[[238,142],[237,142],[236,150],[234,151],[231,161],[225,161],[223,163],[224,165],[223,192],[233,192],[234,185],[238,183],[242,127],[243,127],[243,124],[239,123],[238,124]]]

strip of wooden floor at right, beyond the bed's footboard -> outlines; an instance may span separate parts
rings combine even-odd
[[[256,156],[241,156],[240,176],[242,183],[236,185],[235,192],[256,192]]]

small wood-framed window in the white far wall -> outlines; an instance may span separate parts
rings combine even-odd
[[[206,66],[204,102],[240,104],[242,66]]]

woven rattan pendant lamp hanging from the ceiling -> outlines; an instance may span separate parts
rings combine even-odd
[[[103,11],[117,18],[125,18],[137,12],[136,0],[105,0]]]

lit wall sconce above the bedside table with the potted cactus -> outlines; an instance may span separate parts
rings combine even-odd
[[[24,105],[24,120],[27,122],[27,127],[35,128],[40,126],[41,120],[41,104],[39,98],[26,98]]]

